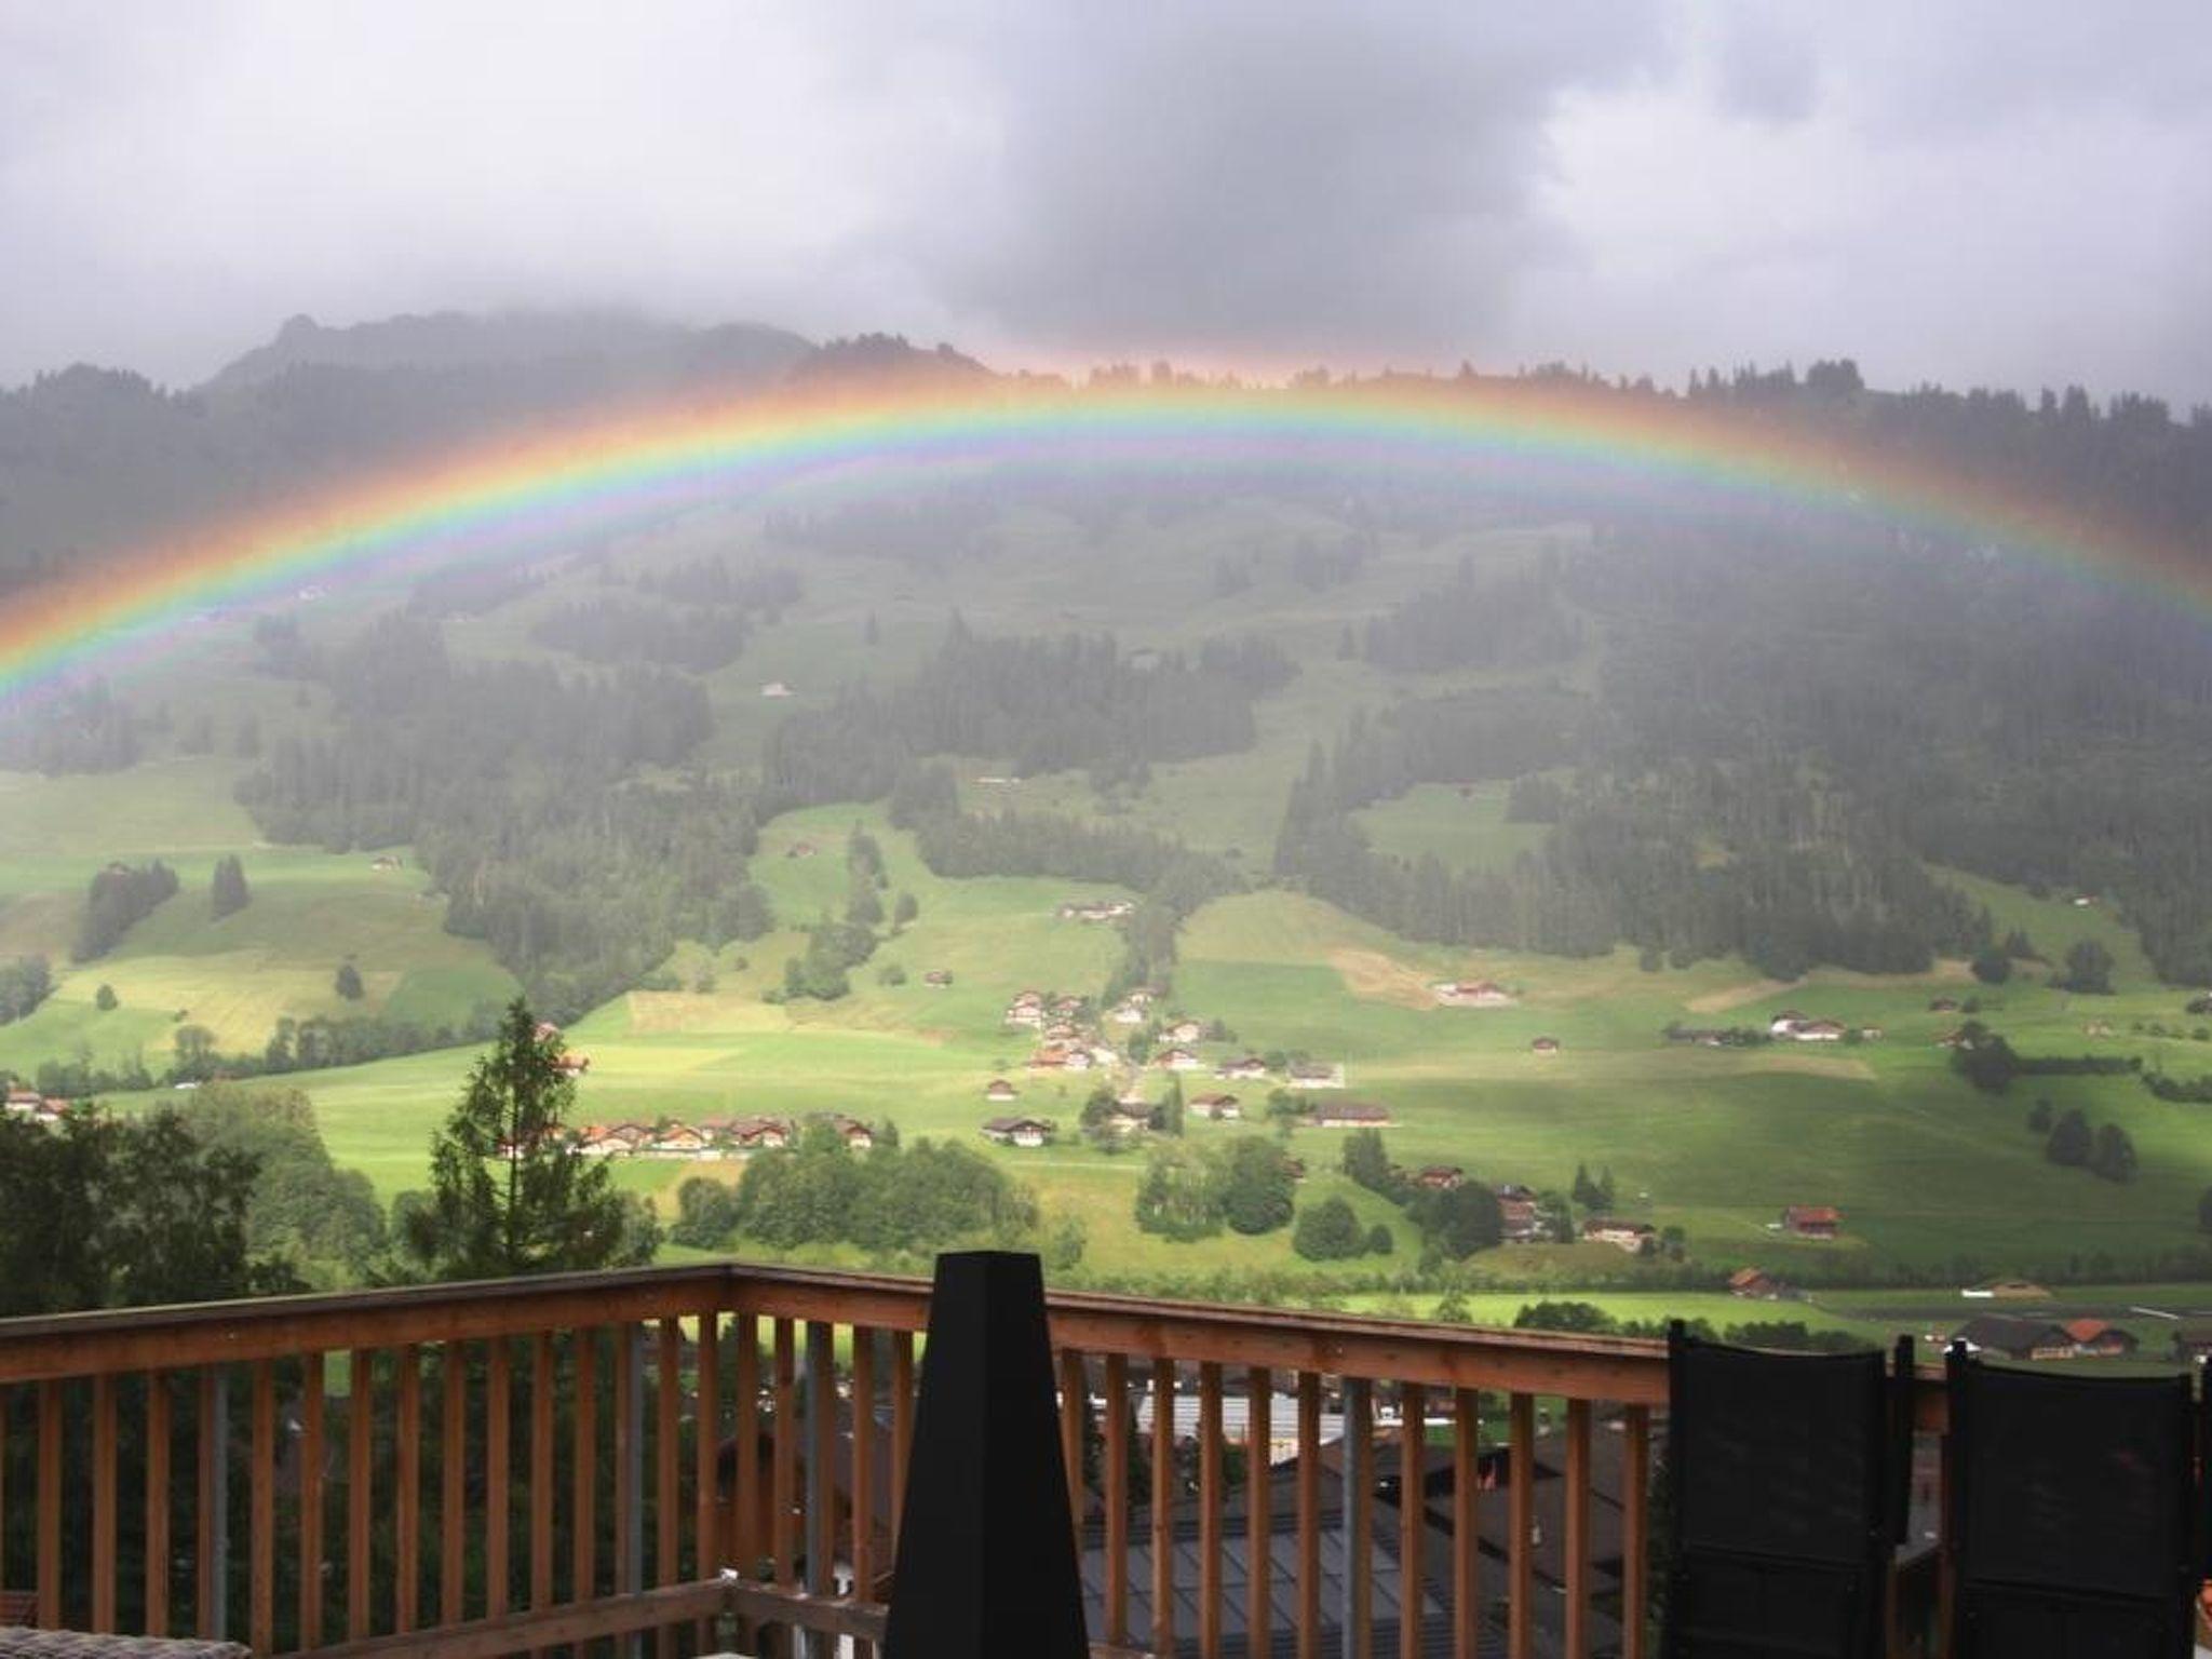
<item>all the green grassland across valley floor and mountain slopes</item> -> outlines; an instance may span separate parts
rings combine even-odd
[[[708,677],[717,734],[708,765],[743,765],[794,706],[841,684],[887,681],[925,659],[958,611],[980,633],[1117,630],[1124,646],[1194,648],[1212,635],[1263,628],[1301,664],[1298,677],[1256,706],[1252,750],[1157,765],[1133,799],[1102,803],[1088,779],[1037,776],[984,783],[1000,761],[958,765],[971,807],[1110,812],[1117,821],[1181,836],[1223,854],[1261,885],[1287,783],[1310,745],[1329,741],[1354,708],[1455,688],[1480,675],[1394,677],[1338,657],[1338,633],[1447,580],[1462,555],[1513,562],[1573,531],[1469,529],[1433,542],[1376,533],[1376,557],[1345,586],[1301,584],[1287,557],[1298,535],[1340,533],[1334,520],[1265,502],[1152,522],[1141,513],[1084,524],[1042,509],[1004,515],[995,553],[949,571],[869,557],[823,557],[761,546],[757,511],[701,513],[633,538],[613,555],[617,577],[719,551],[792,564],[805,602],[761,622],[743,657]],[[1243,584],[1219,584],[1223,562]],[[551,606],[599,595],[597,573],[571,573],[482,617],[453,619],[462,655],[555,659],[529,637]],[[389,595],[387,595],[389,597]],[[869,619],[878,644],[867,644]],[[341,628],[321,613],[314,628]],[[1593,655],[1559,668],[1588,684]],[[792,701],[763,699],[787,681]],[[252,714],[268,730],[314,717],[312,695],[248,670],[241,648],[212,653],[179,712],[206,710],[219,732]],[[422,872],[374,869],[363,854],[261,847],[232,801],[237,759],[161,761],[95,779],[0,774],[0,953],[44,951],[60,989],[29,1020],[0,1026],[0,1068],[29,1073],[40,1060],[142,1055],[166,1060],[179,1024],[204,1024],[219,1046],[259,1048],[279,1018],[372,1011],[418,1022],[456,1018],[511,993],[509,975],[469,940],[442,931],[442,905]],[[1458,869],[1500,867],[1542,841],[1540,825],[1506,823],[1504,785],[1418,787],[1360,814],[1371,841],[1394,854],[1438,856]],[[854,973],[836,1004],[770,1004],[799,929],[845,900],[843,843],[865,823],[885,845],[889,891],[909,891],[920,918]],[[208,916],[217,856],[246,858],[252,905],[223,922]],[[71,967],[69,942],[88,876],[108,858],[168,858],[184,891],[142,922],[102,962]],[[2117,995],[2075,998],[2048,989],[2048,969],[2008,987],[1978,987],[1964,964],[1878,978],[1818,971],[1794,984],[1759,978],[1741,962],[1641,971],[1635,953],[1557,960],[1416,947],[1327,905],[1274,889],[1219,900],[1183,929],[1172,1006],[1221,1020],[1234,1037],[1208,1060],[1245,1051],[1303,1051],[1343,1062],[1349,1095],[1389,1108],[1391,1157],[1407,1166],[1458,1164],[1484,1181],[1566,1188],[1577,1164],[1610,1170],[1617,1208],[1681,1228],[1705,1270],[1765,1265],[1814,1290],[1814,1303],[1772,1316],[1876,1329],[1938,1312],[1918,1296],[1955,1296],[1955,1281],[1995,1272],[2066,1279],[2108,1274],[2163,1250],[2190,1248],[2197,1194],[2212,1186],[2205,1108],[2166,1106],[2132,1077],[2022,1079],[2004,1097],[1971,1091],[1938,1037],[1960,1011],[1936,1000],[1978,998],[1980,1018],[2028,1055],[2139,1055],[2172,1073],[2212,1073],[2212,1040],[2185,1031],[2185,991],[2152,980],[2132,933],[2106,905],[2033,898],[1958,872],[1938,872],[1986,902],[2000,929],[2024,929],[2057,960],[2079,938],[2117,960]],[[1301,1203],[1343,1192],[1369,1223],[1394,1232],[1394,1254],[1307,1270],[1283,1234],[1166,1245],[1139,1234],[1130,1203],[1141,1150],[1106,1152],[1064,1135],[1018,1152],[978,1137],[991,1077],[1020,1088],[1018,1108],[1073,1130],[1093,1077],[1040,1082],[1022,1071],[1029,1033],[1000,1024],[1020,989],[1097,993],[1119,956],[1110,929],[1062,922],[1055,907],[1110,889],[1053,880],[940,880],[876,807],[821,807],[763,827],[752,876],[770,891],[783,931],[708,953],[681,947],[670,962],[681,991],[635,991],[568,1031],[591,1055],[577,1115],[586,1121],[728,1113],[807,1115],[843,1110],[896,1119],[902,1133],[956,1137],[1002,1159],[1044,1208],[1082,1217],[1086,1272],[1104,1279],[1201,1281],[1219,1274],[1301,1272],[1316,1283],[1387,1283],[1416,1267],[1418,1239],[1389,1206],[1338,1175],[1340,1135],[1301,1128],[1292,1150],[1310,1166]],[[367,995],[332,991],[352,958]],[[887,982],[898,969],[902,984]],[[945,989],[925,973],[951,975]],[[1515,991],[1506,1009],[1444,1009],[1429,982],[1491,978]],[[119,1006],[93,998],[111,984]],[[1745,1051],[1674,1046],[1670,1022],[1759,1024],[1783,1009],[1880,1029],[1854,1044],[1772,1044]],[[2161,1024],[2168,1035],[2150,1035]],[[2174,1035],[2181,1033],[2181,1035]],[[1557,1053],[1535,1053],[1551,1037]],[[449,1110],[471,1055],[447,1051],[334,1073],[299,1075],[336,1157],[363,1168],[392,1197],[425,1179],[429,1135]],[[1144,1073],[1157,1095],[1166,1079]],[[1212,1088],[1206,1075],[1186,1086]],[[1230,1084],[1248,1108],[1265,1086]],[[2130,1186],[2097,1181],[2046,1161],[2024,1119],[2037,1097],[2121,1124],[2141,1155]],[[1194,1121],[1194,1141],[1265,1126]],[[737,1164],[628,1159],[619,1179],[659,1203],[692,1175],[734,1179]],[[1785,1206],[1832,1203],[1843,1237],[1807,1243],[1774,1223]],[[1650,1270],[1601,1245],[1511,1250],[1478,1259],[1469,1296],[1482,1316],[1511,1314],[1535,1294],[1604,1285],[1606,1305],[1703,1312],[1717,1323],[1770,1316],[1703,1292],[1657,1290]],[[1644,1274],[1644,1279],[1639,1279]],[[1944,1292],[1829,1292],[1829,1281],[1880,1283],[1896,1274],[1949,1276]],[[1526,1285],[1544,1285],[1531,1292]],[[1626,1285],[1626,1287],[1624,1287]],[[1639,1287],[1641,1285],[1641,1287]],[[1365,1294],[1365,1292],[1360,1292]],[[1438,1292],[1409,1294],[1427,1312]],[[1851,1296],[1902,1298],[1854,1303]],[[2212,1290],[2201,1301],[2212,1303]],[[1874,1310],[1874,1312],[1869,1312]]]

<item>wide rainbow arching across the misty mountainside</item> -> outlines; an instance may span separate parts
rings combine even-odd
[[[192,617],[307,586],[529,557],[595,524],[818,478],[960,465],[1301,465],[1489,469],[1593,484],[1690,484],[2002,544],[2212,611],[2201,551],[2011,482],[1725,409],[1604,387],[1391,378],[1334,387],[1093,387],[991,380],[624,411],[489,440],[241,513],[33,588],[0,615],[0,706],[177,653]]]

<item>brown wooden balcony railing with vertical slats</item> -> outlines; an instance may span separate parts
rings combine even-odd
[[[0,1321],[0,1593],[261,1655],[872,1655],[927,1318],[920,1279],[728,1263]],[[1051,1318],[1106,1648],[1650,1650],[1661,1345]]]

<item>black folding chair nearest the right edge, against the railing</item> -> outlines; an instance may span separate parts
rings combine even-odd
[[[2203,1579],[2183,1376],[1949,1356],[1951,1655],[2188,1659]]]

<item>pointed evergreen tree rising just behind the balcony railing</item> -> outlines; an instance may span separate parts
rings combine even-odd
[[[420,1279],[630,1267],[659,1243],[615,1190],[606,1159],[571,1157],[560,1033],[538,1031],[515,998],[489,1055],[431,1137],[431,1190],[400,1219],[405,1267]]]

